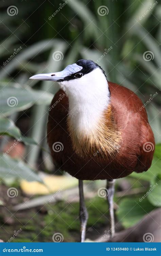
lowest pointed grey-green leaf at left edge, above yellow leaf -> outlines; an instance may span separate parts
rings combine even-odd
[[[27,181],[42,182],[38,174],[23,161],[13,159],[8,155],[0,155],[0,177],[15,177]]]

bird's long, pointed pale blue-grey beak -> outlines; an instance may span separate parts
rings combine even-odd
[[[62,70],[60,72],[55,72],[55,73],[33,75],[30,77],[30,79],[58,81],[58,80],[64,80],[65,76],[66,76],[66,72],[64,72],[64,70]]]

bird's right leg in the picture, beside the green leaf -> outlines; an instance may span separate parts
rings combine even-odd
[[[107,201],[109,205],[111,232],[110,237],[112,238],[115,232],[114,228],[114,209],[113,209],[113,196],[114,196],[114,182],[115,180],[107,180]]]

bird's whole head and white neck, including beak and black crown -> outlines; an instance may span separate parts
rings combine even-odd
[[[69,100],[68,124],[76,137],[79,134],[84,138],[100,127],[110,91],[105,72],[94,61],[81,59],[60,72],[37,74],[30,79],[58,82]]]

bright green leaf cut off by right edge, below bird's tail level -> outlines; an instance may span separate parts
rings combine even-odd
[[[155,206],[161,206],[161,181],[156,179],[151,182],[149,191],[150,193],[147,197],[149,202]]]

